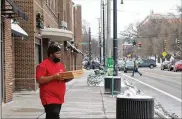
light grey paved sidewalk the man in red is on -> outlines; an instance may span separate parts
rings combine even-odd
[[[104,95],[103,87],[87,86],[89,72],[85,71],[82,78],[67,84],[61,118],[115,118],[116,100],[110,95]],[[3,106],[3,118],[45,118],[38,91],[17,92],[13,100]]]

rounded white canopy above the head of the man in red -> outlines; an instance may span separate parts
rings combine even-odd
[[[70,41],[73,39],[73,33],[69,30],[58,28],[44,28],[41,30],[42,38],[49,38],[51,41]]]

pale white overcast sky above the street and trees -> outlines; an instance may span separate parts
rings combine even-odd
[[[76,4],[82,6],[82,19],[86,20],[91,27],[92,37],[98,37],[98,18],[100,18],[101,0],[73,0]],[[113,0],[111,0],[113,1]],[[124,31],[130,23],[142,22],[153,10],[154,13],[167,14],[175,13],[176,6],[181,5],[182,0],[123,0],[118,7],[118,37],[121,31]],[[111,2],[111,9],[113,9]],[[113,10],[111,10],[111,19],[113,19]],[[113,21],[111,20],[111,37],[113,32]]]

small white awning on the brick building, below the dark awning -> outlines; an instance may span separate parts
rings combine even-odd
[[[18,24],[14,24],[13,20],[11,20],[11,31],[14,36],[28,37],[28,34]]]

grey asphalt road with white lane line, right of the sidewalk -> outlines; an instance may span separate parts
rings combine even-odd
[[[160,68],[139,68],[143,74],[124,73],[126,78],[145,95],[154,97],[170,112],[182,118],[182,72],[162,71]]]

